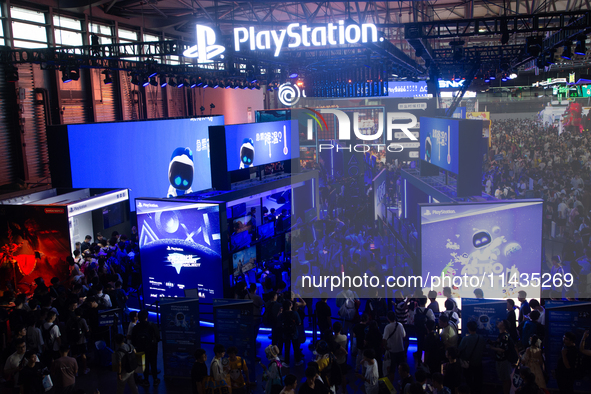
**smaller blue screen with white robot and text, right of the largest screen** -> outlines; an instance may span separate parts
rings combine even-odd
[[[299,157],[297,141],[292,140],[295,121],[249,123],[226,126],[228,171],[262,166]],[[297,135],[294,136],[297,139]]]

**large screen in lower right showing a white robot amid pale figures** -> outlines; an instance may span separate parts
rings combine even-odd
[[[422,278],[428,281],[423,287],[457,287],[461,297],[473,297],[475,288],[486,298],[517,297],[519,290],[535,283],[532,274],[540,278],[542,204],[517,200],[421,205]],[[539,285],[528,295],[535,297],[534,292],[539,294]]]

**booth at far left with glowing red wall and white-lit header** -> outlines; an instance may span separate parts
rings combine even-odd
[[[2,200],[0,229],[7,282],[26,293],[38,277],[47,284],[53,277],[65,283],[66,258],[76,242],[99,232],[106,238],[113,231],[129,234],[128,190],[50,189]]]

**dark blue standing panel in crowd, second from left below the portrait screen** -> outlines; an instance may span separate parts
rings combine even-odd
[[[254,305],[251,300],[225,298],[213,300],[215,343],[236,346],[237,356],[246,362],[251,382],[256,381],[256,338],[254,336],[253,310]]]

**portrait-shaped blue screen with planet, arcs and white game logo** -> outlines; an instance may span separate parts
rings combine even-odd
[[[136,200],[146,305],[198,289],[223,297],[219,208],[213,204]]]

